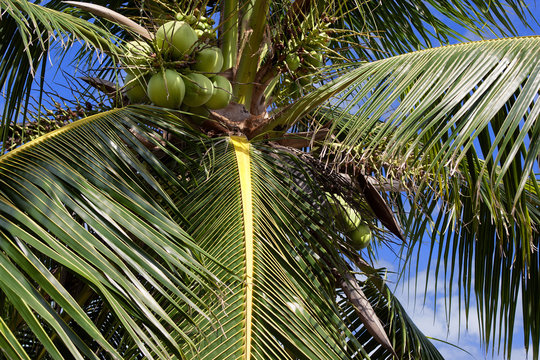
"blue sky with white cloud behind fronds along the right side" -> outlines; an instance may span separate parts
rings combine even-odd
[[[534,14],[537,21],[540,21],[540,5],[532,4],[530,6],[531,13]],[[514,25],[517,28],[518,34],[521,36],[528,35],[540,35],[540,27],[535,24],[534,19],[530,19],[528,22],[532,29],[525,28],[515,16],[510,16]],[[465,33],[464,36],[471,40],[478,40],[472,33]],[[494,37],[493,35],[488,37]],[[420,262],[420,268],[417,274],[412,273],[410,277],[405,277],[396,283],[397,276],[393,272],[399,271],[397,267],[398,259],[394,253],[382,248],[379,248],[379,259],[377,265],[380,267],[386,267],[389,271],[388,281],[394,286],[395,295],[401,301],[405,309],[411,318],[415,321],[416,325],[427,336],[438,338],[443,341],[447,341],[451,344],[457,345],[463,350],[457,349],[454,346],[445,344],[439,341],[433,341],[435,346],[439,349],[442,355],[446,359],[452,360],[503,360],[505,357],[502,352],[497,354],[492,353],[491,347],[486,349],[481,346],[480,329],[477,321],[477,308],[472,302],[469,310],[469,321],[465,321],[465,308],[458,306],[458,291],[454,289],[453,293],[448,298],[452,299],[451,315],[447,318],[445,311],[445,298],[443,294],[444,287],[446,286],[444,280],[440,280],[437,284],[438,298],[435,299],[435,283],[430,281],[425,286],[426,279],[426,257],[428,254],[423,254]],[[414,270],[413,270],[414,272]],[[430,274],[430,279],[434,278],[433,274]],[[418,284],[418,288],[415,291],[415,283]],[[424,298],[426,299],[424,302]],[[531,358],[527,357],[523,347],[523,317],[521,315],[521,305],[518,306],[516,315],[516,324],[514,328],[514,340],[512,347],[512,360],[526,360]]]

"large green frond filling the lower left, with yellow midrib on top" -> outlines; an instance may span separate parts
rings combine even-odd
[[[122,358],[135,346],[169,359],[182,356],[171,330],[190,343],[179,319],[210,315],[193,286],[212,294],[214,277],[154,177],[185,190],[130,132],[137,120],[129,108],[105,112],[1,158],[0,311],[10,353],[97,359],[101,349]],[[103,316],[122,329],[121,344]],[[15,342],[17,334],[26,336]]]

